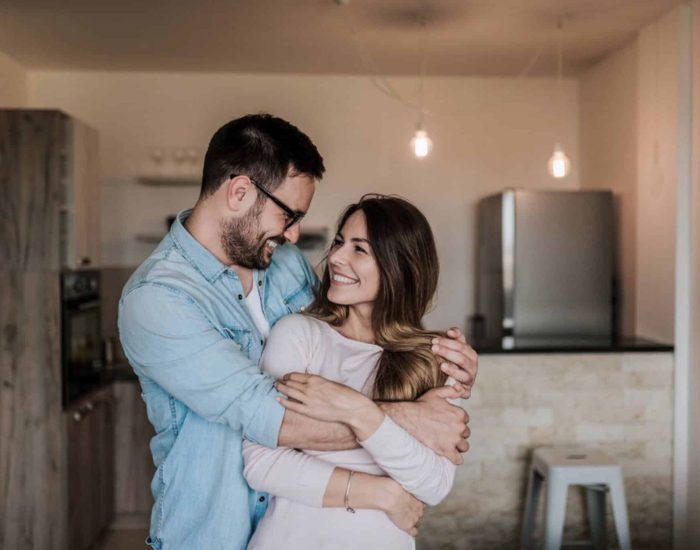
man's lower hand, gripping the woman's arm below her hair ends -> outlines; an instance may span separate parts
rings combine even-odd
[[[460,453],[469,450],[469,415],[447,401],[463,395],[464,389],[458,386],[433,388],[413,402],[382,403],[380,406],[418,441],[454,464],[462,464]]]

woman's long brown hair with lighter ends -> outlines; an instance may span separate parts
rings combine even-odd
[[[428,220],[410,202],[397,196],[364,195],[340,216],[337,232],[362,211],[367,237],[379,266],[379,292],[372,310],[375,343],[384,351],[374,373],[372,396],[382,401],[413,401],[447,376],[430,350],[439,333],[423,328],[422,319],[437,289],[439,265]],[[328,300],[330,273],[307,313],[333,326],[348,317],[348,306]]]

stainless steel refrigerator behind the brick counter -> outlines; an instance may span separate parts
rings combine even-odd
[[[507,190],[478,206],[483,339],[611,338],[610,191]]]

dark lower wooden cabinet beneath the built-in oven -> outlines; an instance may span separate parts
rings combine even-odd
[[[89,548],[114,519],[114,397],[91,394],[64,414],[68,449],[68,548]]]

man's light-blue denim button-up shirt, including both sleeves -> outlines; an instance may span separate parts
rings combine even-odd
[[[276,447],[284,408],[258,368],[263,337],[241,282],[184,228],[190,212],[178,214],[119,303],[121,342],[155,429],[148,542],[243,550],[268,498],[243,478],[241,441]],[[298,249],[284,245],[254,284],[272,326],[309,304],[316,277]]]

